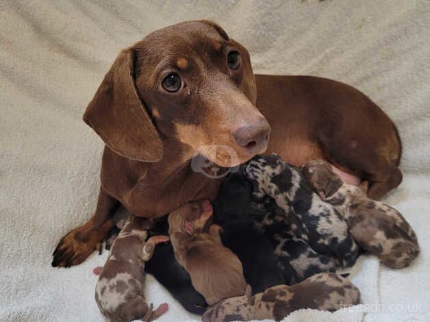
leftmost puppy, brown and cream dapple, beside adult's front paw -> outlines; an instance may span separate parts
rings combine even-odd
[[[152,321],[168,310],[167,304],[162,304],[153,311],[143,295],[144,262],[158,243],[168,241],[167,236],[147,240],[149,227],[149,219],[130,216],[112,244],[95,290],[97,305],[110,322]]]

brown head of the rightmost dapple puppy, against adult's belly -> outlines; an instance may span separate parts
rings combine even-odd
[[[334,195],[343,184],[342,179],[331,170],[331,165],[324,160],[308,161],[302,170],[323,200]]]

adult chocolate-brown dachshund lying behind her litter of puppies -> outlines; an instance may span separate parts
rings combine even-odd
[[[396,127],[362,92],[318,77],[254,75],[248,51],[210,21],[166,27],[123,50],[84,121],[105,143],[99,201],[60,240],[54,267],[84,261],[120,203],[155,218],[213,200],[221,179],[192,169],[197,152],[218,166],[264,151],[296,166],[324,158],[367,181],[375,199],[402,179]]]

